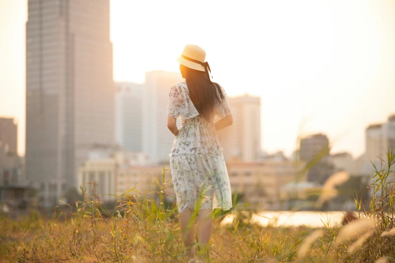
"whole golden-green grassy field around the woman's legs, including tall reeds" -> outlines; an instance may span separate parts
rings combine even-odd
[[[373,166],[373,197],[367,211],[362,211],[356,196],[359,214],[370,221],[360,219],[342,228],[322,222],[318,230],[262,227],[248,222],[256,211],[242,213],[243,208],[235,205],[229,211],[235,215],[230,225],[221,226],[224,213],[214,211],[211,250],[206,261],[375,262],[382,258],[382,262],[395,262],[394,162],[395,155],[388,153],[381,168]],[[162,179],[165,185],[164,175]],[[0,260],[187,262],[177,208],[165,205],[163,193],[164,188],[158,191],[159,202],[131,198],[127,193],[116,196],[114,211],[108,213],[102,208],[101,196],[83,191],[84,201],[63,204],[69,212],[55,208],[52,219],[41,219],[34,212],[18,221],[2,217]]]

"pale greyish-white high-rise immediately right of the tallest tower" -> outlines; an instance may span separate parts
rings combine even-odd
[[[115,134],[116,141],[126,151],[143,150],[143,85],[131,82],[116,83]]]

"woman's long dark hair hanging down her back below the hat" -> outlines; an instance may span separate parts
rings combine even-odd
[[[204,71],[185,67],[185,75],[193,105],[199,114],[210,122],[215,114],[216,105],[221,103],[225,95],[217,83],[207,78]]]

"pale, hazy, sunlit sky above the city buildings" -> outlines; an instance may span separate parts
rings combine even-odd
[[[367,125],[395,113],[395,1],[111,0],[115,81],[178,71],[185,44],[206,52],[228,95],[261,96],[262,148],[290,154],[323,132],[363,153]],[[0,0],[0,116],[25,148],[26,0]],[[170,87],[169,87],[170,88]]]

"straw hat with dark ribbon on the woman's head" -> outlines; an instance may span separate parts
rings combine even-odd
[[[185,65],[185,67],[206,72],[207,79],[211,81],[210,75],[208,74],[208,72],[211,73],[210,66],[208,62],[204,62],[205,59],[206,51],[200,46],[192,44],[185,45],[182,54],[177,57],[177,61]]]

